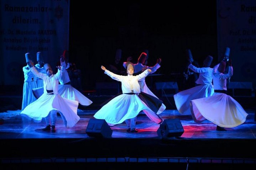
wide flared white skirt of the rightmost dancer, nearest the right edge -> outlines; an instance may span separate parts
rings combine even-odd
[[[244,123],[248,115],[234,98],[223,93],[192,100],[190,106],[195,122],[207,119],[224,128]]]

